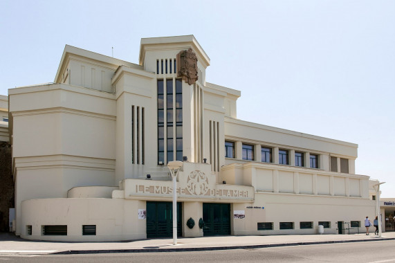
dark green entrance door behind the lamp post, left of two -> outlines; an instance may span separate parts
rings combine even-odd
[[[171,202],[147,201],[147,238],[173,237]],[[177,203],[177,236],[181,236],[181,203]]]

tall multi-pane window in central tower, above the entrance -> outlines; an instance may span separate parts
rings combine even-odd
[[[157,84],[158,163],[165,164],[174,160],[183,161],[182,80],[168,78],[158,80]]]

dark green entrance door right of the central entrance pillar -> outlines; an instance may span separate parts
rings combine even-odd
[[[230,204],[203,203],[203,235],[230,235]]]

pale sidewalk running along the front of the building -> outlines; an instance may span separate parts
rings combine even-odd
[[[264,248],[273,246],[300,246],[342,242],[371,242],[394,240],[395,232],[370,235],[249,235],[143,239],[127,242],[48,242],[30,241],[15,237],[11,233],[0,233],[0,255],[34,254],[86,254],[86,253],[140,253],[167,251],[211,251],[225,249]]]

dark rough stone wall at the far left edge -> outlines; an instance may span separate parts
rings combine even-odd
[[[14,208],[11,146],[0,142],[0,232],[9,231],[8,210]]]

